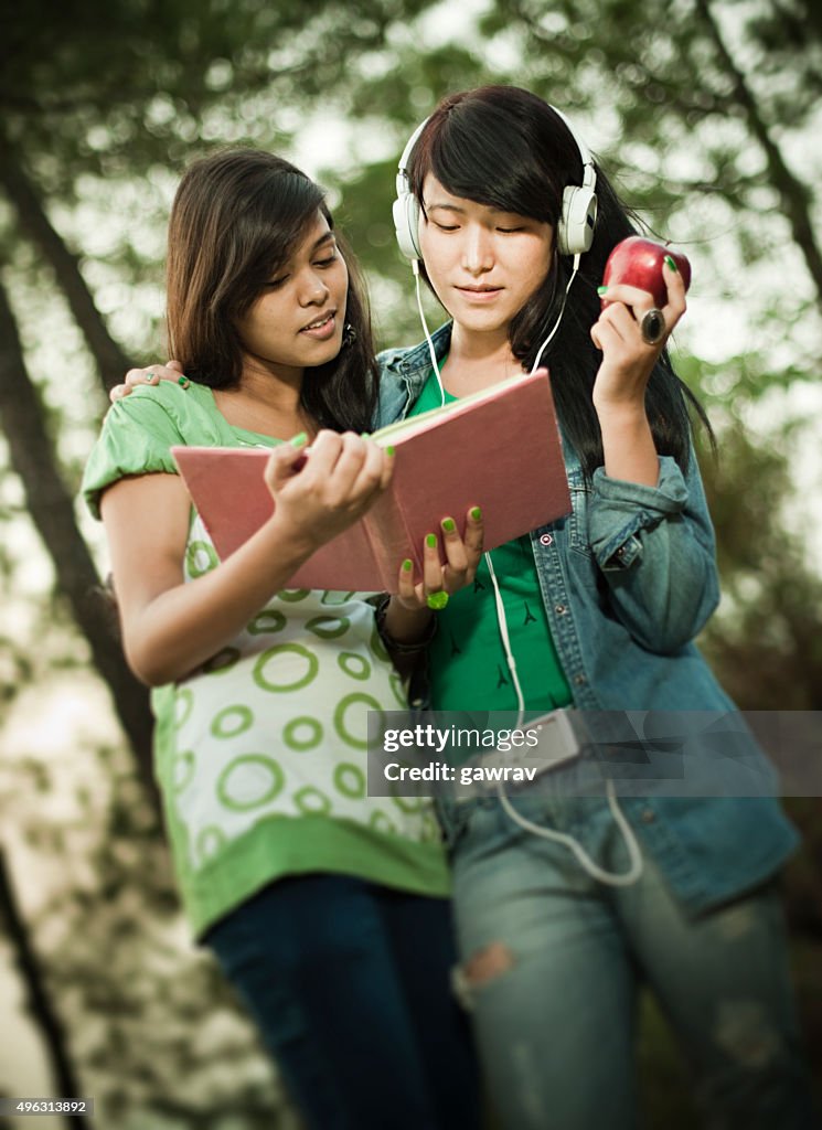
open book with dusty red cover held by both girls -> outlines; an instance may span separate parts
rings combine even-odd
[[[453,518],[462,533],[480,506],[493,549],[570,513],[551,386],[545,370],[381,428],[394,476],[355,525],[295,573],[294,589],[396,592],[402,560],[421,576],[422,541]],[[265,522],[274,502],[263,481],[265,447],[173,447],[181,475],[221,558]],[[308,454],[311,459],[311,454]]]

